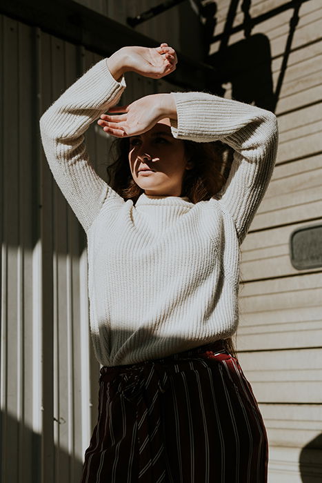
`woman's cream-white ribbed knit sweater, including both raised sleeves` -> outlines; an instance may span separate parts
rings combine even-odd
[[[143,193],[134,206],[94,171],[83,137],[125,87],[103,59],[41,117],[50,169],[88,237],[90,326],[104,366],[234,334],[239,244],[270,181],[277,144],[272,112],[205,92],[174,92],[172,135],[232,146],[230,177],[209,201]]]

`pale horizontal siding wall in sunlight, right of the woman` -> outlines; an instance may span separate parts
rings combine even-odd
[[[246,3],[256,19],[287,2],[218,1],[213,59],[224,29],[228,51],[245,38],[234,27],[243,23]],[[322,481],[322,268],[296,270],[289,253],[295,228],[322,222],[322,4],[300,1],[297,7],[297,23],[294,2],[251,31],[270,44],[280,135],[272,181],[242,246],[237,348],[268,428],[274,483]],[[226,97],[242,70],[226,79]],[[248,70],[247,79],[252,75]]]

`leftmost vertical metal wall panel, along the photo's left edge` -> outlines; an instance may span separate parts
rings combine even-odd
[[[6,248],[3,254],[4,302],[3,313],[3,334],[6,345],[3,357],[3,383],[5,394],[3,394],[4,437],[3,449],[5,460],[3,460],[4,471],[8,475],[8,481],[18,480],[18,466],[10,464],[19,451],[19,417],[20,404],[19,392],[21,380],[17,370],[17,359],[19,353],[19,313],[18,304],[20,301],[20,286],[18,279],[19,270],[19,150],[18,130],[12,129],[16,122],[15,112],[18,111],[18,36],[17,22],[6,20],[3,25],[3,70],[6,77],[3,81],[5,96],[3,99],[3,114],[6,116],[6,124],[3,126],[3,166],[4,172],[4,209],[3,209],[3,235],[6,237]],[[10,55],[12,53],[12,55]]]

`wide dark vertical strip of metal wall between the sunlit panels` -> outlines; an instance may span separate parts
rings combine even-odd
[[[41,34],[39,67],[41,112],[52,102],[50,36]],[[54,482],[54,290],[53,183],[46,159],[41,156],[41,478]]]

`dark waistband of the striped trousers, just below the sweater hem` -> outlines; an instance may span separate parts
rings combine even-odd
[[[137,362],[137,364],[124,364],[121,366],[103,366],[101,368],[101,375],[104,376],[107,373],[109,373],[110,375],[112,373],[117,374],[117,373],[126,371],[126,369],[140,368],[143,366],[147,366],[148,364],[151,364],[153,362],[166,363],[166,362],[171,362],[179,359],[196,357],[199,354],[216,355],[219,353],[227,353],[223,339],[219,339],[214,342],[210,342],[208,344],[203,344],[202,346],[193,347],[191,349],[188,349],[187,351],[182,351],[179,353],[167,355],[165,357],[159,357],[158,359],[149,359],[147,361]]]

